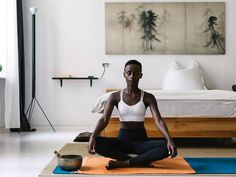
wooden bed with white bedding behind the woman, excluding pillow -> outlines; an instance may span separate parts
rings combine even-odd
[[[117,91],[108,89],[100,96],[92,112],[102,113],[109,95]],[[233,138],[236,137],[236,92],[228,90],[145,90],[152,93],[158,103],[172,137]],[[102,135],[115,137],[119,118],[114,109]],[[145,128],[149,137],[162,137],[148,109]]]

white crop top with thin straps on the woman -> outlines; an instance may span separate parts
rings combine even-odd
[[[143,103],[144,91],[141,91],[141,98],[135,105],[127,105],[123,101],[123,90],[120,91],[120,101],[118,103],[118,112],[121,122],[143,122],[146,113],[146,106]]]

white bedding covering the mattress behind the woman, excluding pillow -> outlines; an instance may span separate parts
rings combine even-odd
[[[145,90],[152,93],[163,117],[236,117],[236,92],[228,90]],[[111,93],[100,96],[92,112],[101,113]],[[114,109],[112,116],[118,116]],[[146,116],[151,116],[148,108]]]

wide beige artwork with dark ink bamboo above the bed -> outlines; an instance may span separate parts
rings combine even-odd
[[[106,54],[225,54],[224,2],[106,2]]]

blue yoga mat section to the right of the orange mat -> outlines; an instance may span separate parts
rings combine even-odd
[[[197,174],[236,174],[236,158],[184,158]]]

